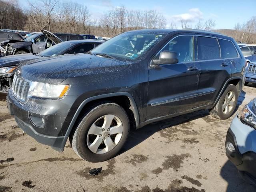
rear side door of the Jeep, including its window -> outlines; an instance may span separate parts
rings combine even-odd
[[[231,73],[230,62],[221,58],[217,38],[197,36],[197,47],[200,78],[195,107],[213,104]]]

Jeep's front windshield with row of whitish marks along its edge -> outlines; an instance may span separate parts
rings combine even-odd
[[[108,54],[121,60],[135,60],[146,54],[165,34],[128,32],[104,42],[91,52]]]

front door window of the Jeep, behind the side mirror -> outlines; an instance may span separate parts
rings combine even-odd
[[[176,52],[179,62],[194,61],[194,37],[178,36],[170,41],[161,51]],[[158,60],[160,52],[154,59]]]

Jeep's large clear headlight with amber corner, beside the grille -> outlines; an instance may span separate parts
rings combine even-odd
[[[42,98],[61,98],[67,94],[69,88],[69,85],[30,82],[27,98],[32,96]]]

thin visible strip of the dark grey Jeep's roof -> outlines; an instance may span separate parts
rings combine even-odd
[[[133,30],[128,32],[152,32],[152,33],[161,33],[161,34],[170,34],[172,32],[190,32],[190,33],[200,33],[200,34],[209,34],[214,36],[222,36],[222,37],[228,37],[224,34],[218,33],[218,32],[212,32],[212,31],[206,31],[206,30],[197,30],[197,29],[140,29],[140,30]]]

